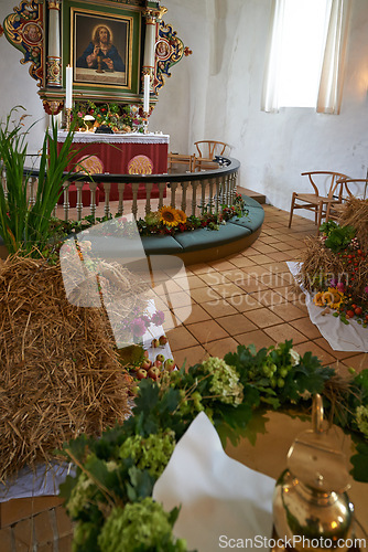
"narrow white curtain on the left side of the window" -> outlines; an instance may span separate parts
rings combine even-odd
[[[268,113],[277,113],[279,110],[279,63],[282,44],[284,6],[285,0],[272,0],[268,60],[266,62],[261,99],[261,109]]]

